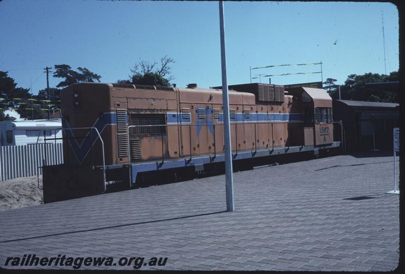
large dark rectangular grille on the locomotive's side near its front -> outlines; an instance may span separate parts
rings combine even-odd
[[[151,125],[131,127],[131,134],[165,134],[166,126],[153,126],[153,125],[165,125],[166,119],[164,113],[131,113],[130,114],[131,125]]]

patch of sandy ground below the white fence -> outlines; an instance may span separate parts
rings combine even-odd
[[[39,180],[42,181],[41,175]],[[0,211],[42,203],[42,191],[38,189],[36,176],[0,181]]]

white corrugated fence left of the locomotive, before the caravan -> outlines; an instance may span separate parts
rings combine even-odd
[[[42,174],[38,167],[43,166],[43,159],[47,159],[48,165],[63,163],[62,144],[0,147],[0,181]]]

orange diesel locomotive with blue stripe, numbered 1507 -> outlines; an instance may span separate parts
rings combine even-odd
[[[325,90],[229,87],[233,160],[339,147]],[[76,83],[62,90],[61,113],[64,163],[44,159],[45,203],[131,187],[142,172],[224,161],[221,89]]]

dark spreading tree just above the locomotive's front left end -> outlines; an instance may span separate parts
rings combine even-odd
[[[91,72],[87,68],[78,67],[77,71],[71,69],[69,65],[55,65],[56,71],[54,72],[54,77],[64,78],[56,87],[64,87],[78,82],[94,82],[97,80],[100,82],[101,76]]]

